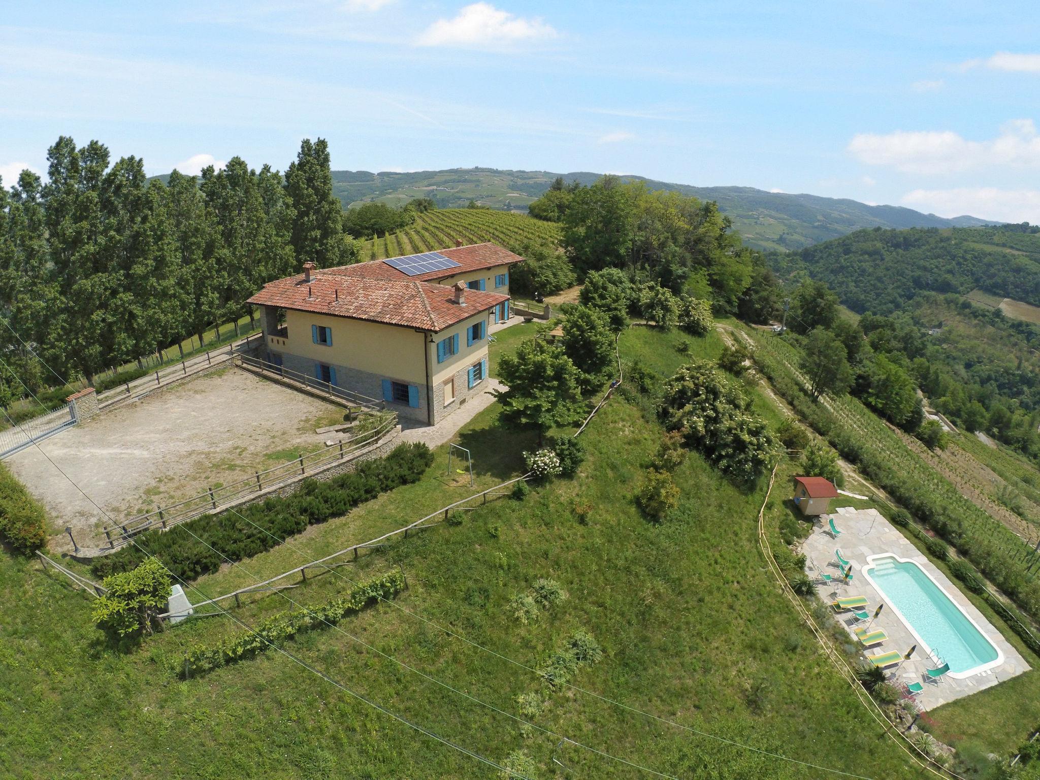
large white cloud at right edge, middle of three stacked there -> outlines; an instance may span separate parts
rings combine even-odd
[[[1013,120],[990,140],[967,140],[952,130],[859,133],[849,152],[860,162],[915,174],[945,174],[973,167],[1040,165],[1040,135],[1033,120]]]

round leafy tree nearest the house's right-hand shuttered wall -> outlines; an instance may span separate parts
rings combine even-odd
[[[502,420],[537,428],[540,446],[547,431],[577,422],[584,414],[581,374],[558,344],[542,339],[521,342],[516,353],[499,359],[498,375],[509,386],[496,393]]]

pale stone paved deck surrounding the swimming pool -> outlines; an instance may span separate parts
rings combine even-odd
[[[889,681],[895,684],[925,683],[925,691],[917,697],[917,702],[924,709],[934,709],[941,704],[970,696],[1030,670],[1029,665],[1018,654],[1018,651],[968,601],[960,588],[939,571],[903,536],[899,528],[889,523],[877,510],[857,511],[851,506],[843,506],[833,511],[831,517],[834,518],[834,524],[841,531],[841,535],[834,539],[830,534],[827,521],[821,522],[817,518],[811,536],[802,545],[802,552],[806,556],[806,570],[813,578],[818,578],[822,574],[827,573],[833,575],[837,580],[840,574],[837,557],[834,553],[835,550],[839,549],[842,556],[852,563],[853,581],[849,584],[837,586],[833,583],[817,584],[816,592],[824,601],[830,603],[838,597],[864,596],[867,600],[865,608],[873,615],[883,599],[863,575],[862,567],[866,565],[866,560],[870,555],[894,553],[901,558],[914,561],[920,565],[950,594],[957,605],[976,622],[976,625],[982,629],[990,642],[1004,653],[1004,662],[993,669],[963,679],[955,679],[947,675],[938,684],[927,682],[925,670],[934,666],[932,659],[899,615],[890,608],[891,605],[885,603],[885,608],[872,622],[870,628],[883,629],[888,634],[888,640],[866,652],[881,654],[894,650],[906,653],[913,645],[917,645],[917,650],[909,660],[903,661],[899,667],[891,667],[888,672]],[[849,631],[852,643],[858,644],[856,635],[853,633],[855,626],[853,625],[852,613],[836,613],[835,617]],[[941,648],[939,649],[941,651]]]

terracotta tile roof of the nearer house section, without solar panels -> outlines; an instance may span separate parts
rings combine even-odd
[[[458,306],[452,297],[452,288],[448,285],[318,270],[310,283],[304,281],[303,274],[268,282],[249,303],[436,333],[487,311],[510,296],[466,290],[465,306]]]

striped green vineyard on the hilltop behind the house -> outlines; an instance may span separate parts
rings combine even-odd
[[[437,209],[419,214],[415,224],[399,233],[365,241],[361,260],[414,255],[463,243],[494,241],[511,248],[524,241],[560,240],[560,226],[525,214],[490,209]]]

